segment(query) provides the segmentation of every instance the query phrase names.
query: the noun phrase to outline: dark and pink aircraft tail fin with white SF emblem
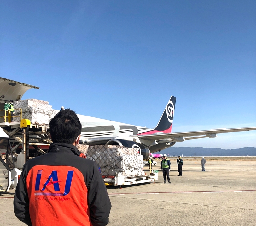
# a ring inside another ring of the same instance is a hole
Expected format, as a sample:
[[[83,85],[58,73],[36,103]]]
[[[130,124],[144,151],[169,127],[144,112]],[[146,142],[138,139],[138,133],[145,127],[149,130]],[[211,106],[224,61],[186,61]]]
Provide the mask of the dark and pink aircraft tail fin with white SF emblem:
[[[168,101],[165,110],[154,130],[170,133],[172,130],[172,121],[174,115],[174,108],[176,103],[176,97],[171,96],[170,100]]]

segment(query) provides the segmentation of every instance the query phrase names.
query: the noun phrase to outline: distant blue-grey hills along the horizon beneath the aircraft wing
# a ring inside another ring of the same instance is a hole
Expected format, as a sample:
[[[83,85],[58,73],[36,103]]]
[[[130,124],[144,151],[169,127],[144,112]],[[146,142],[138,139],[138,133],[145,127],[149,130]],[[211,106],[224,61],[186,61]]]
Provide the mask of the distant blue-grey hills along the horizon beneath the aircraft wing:
[[[256,148],[246,147],[238,149],[221,148],[190,148],[190,147],[170,147],[157,154],[169,154],[169,156],[256,156]]]

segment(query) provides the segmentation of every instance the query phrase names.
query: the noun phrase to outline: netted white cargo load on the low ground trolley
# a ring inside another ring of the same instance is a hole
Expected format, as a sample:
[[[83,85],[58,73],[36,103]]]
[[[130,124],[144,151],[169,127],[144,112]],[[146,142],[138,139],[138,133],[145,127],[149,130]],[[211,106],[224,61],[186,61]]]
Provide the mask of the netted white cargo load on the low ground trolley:
[[[98,163],[101,167],[101,174],[104,176],[121,174],[125,177],[131,177],[145,175],[143,156],[137,153],[136,148],[95,145],[88,148],[87,159]]]

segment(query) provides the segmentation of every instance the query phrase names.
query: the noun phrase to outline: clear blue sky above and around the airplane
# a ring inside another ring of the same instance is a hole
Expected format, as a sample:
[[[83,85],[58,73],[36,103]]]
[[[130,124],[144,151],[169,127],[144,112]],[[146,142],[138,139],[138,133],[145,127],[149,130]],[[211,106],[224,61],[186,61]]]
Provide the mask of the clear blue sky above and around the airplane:
[[[0,76],[23,99],[172,132],[256,126],[255,1],[1,1]],[[176,147],[256,147],[256,132]]]

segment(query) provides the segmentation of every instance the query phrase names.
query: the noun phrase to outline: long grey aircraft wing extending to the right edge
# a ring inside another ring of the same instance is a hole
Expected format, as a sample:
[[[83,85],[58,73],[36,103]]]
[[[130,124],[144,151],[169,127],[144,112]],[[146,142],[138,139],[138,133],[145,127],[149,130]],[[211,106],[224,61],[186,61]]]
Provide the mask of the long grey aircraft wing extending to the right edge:
[[[217,133],[240,132],[240,131],[249,131],[249,130],[256,130],[256,127],[213,129],[213,130],[177,132],[177,133],[154,133],[149,135],[136,135],[134,137],[139,137],[144,140],[171,139],[172,141],[182,142],[185,140],[193,140],[193,139],[199,139],[204,137],[214,138],[214,137],[217,137]]]

